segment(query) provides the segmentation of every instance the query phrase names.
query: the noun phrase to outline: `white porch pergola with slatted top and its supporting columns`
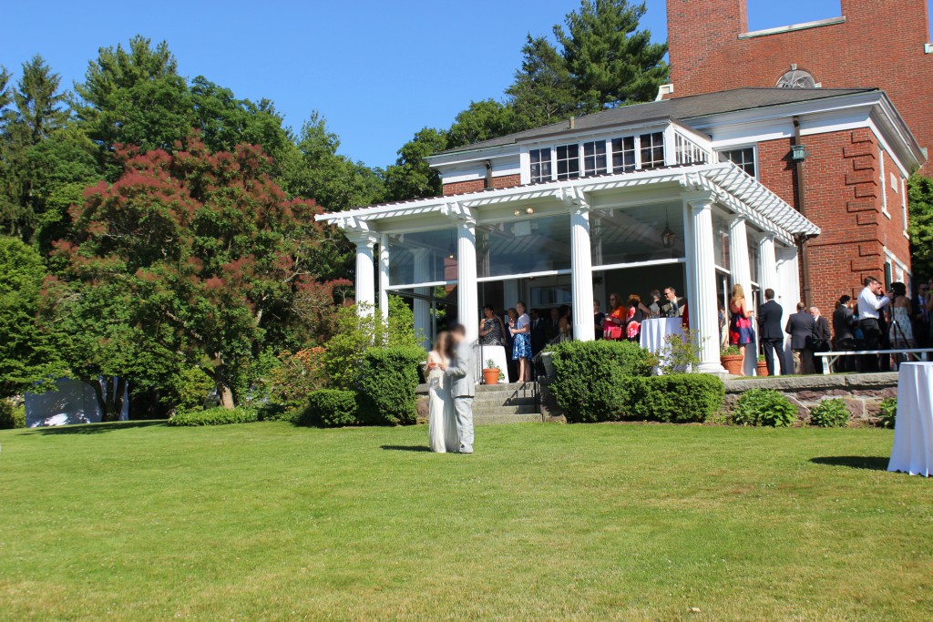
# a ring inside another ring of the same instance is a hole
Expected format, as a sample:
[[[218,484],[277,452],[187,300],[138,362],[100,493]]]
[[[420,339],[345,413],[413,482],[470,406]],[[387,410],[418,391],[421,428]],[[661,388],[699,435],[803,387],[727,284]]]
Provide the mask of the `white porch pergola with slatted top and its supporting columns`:
[[[714,210],[729,219],[731,283],[751,292],[748,229],[759,256],[759,287],[787,293],[786,312],[800,295],[797,242],[819,234],[812,222],[731,162],[689,164],[606,174],[530,186],[488,189],[450,197],[409,200],[321,214],[356,244],[356,300],[375,308],[375,249],[379,248],[378,308],[388,312],[389,235],[430,228],[456,229],[456,292],[459,321],[477,339],[480,317],[477,274],[478,225],[543,215],[569,214],[571,291],[575,310],[590,309],[591,214],[652,203],[682,205],[689,325],[698,337],[701,371],[720,372]],[[534,206],[533,214],[527,208]],[[622,266],[620,266],[622,267]],[[637,268],[638,264],[626,264]],[[513,275],[521,278],[523,275]],[[593,339],[593,315],[573,313],[574,339]],[[753,358],[754,360],[754,358]]]

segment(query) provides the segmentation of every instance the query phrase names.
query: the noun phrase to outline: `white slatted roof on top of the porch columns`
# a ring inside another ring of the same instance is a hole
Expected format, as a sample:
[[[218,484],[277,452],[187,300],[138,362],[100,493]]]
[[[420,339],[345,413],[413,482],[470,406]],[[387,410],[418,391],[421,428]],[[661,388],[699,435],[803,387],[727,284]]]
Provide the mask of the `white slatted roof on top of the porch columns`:
[[[678,193],[710,192],[717,203],[734,214],[745,215],[750,223],[773,233],[775,238],[788,245],[794,244],[799,237],[813,237],[820,233],[814,223],[732,162],[661,167],[381,203],[346,212],[320,214],[317,220],[337,225],[348,233],[378,233],[393,221],[411,222],[412,216],[443,215],[481,222],[483,210],[488,206],[542,199],[579,202],[590,196],[662,185],[675,185],[679,187]],[[671,198],[675,199],[677,195],[672,194]]]

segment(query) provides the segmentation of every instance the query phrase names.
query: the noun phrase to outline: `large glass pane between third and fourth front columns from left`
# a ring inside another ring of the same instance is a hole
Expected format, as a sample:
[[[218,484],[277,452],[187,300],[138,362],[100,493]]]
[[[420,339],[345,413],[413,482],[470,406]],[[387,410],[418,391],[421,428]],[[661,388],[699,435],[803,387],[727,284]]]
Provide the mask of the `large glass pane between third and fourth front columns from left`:
[[[593,266],[680,258],[684,256],[683,206],[593,210],[590,234]]]

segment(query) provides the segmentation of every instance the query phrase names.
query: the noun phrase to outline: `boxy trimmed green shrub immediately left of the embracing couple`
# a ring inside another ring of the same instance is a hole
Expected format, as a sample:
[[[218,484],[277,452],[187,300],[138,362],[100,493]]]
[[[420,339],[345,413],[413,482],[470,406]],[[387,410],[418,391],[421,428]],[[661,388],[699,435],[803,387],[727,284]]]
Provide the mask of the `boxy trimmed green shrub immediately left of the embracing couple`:
[[[369,348],[359,380],[359,419],[373,425],[408,425],[417,416],[421,348]]]

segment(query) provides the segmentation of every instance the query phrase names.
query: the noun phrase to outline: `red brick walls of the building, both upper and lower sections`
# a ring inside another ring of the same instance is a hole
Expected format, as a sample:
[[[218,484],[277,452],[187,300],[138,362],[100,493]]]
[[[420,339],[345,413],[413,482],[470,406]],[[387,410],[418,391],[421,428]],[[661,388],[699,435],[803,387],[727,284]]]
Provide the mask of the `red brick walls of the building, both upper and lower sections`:
[[[842,0],[839,17],[749,32],[747,0],[668,0],[671,85],[662,90],[676,98],[739,87],[878,88],[923,148],[933,145],[927,17],[926,0]],[[871,125],[803,132],[796,140],[810,155],[790,165],[789,124],[783,133],[757,141],[759,175],[823,230],[803,251],[803,297],[826,307],[869,274],[909,281],[903,177],[918,166],[931,173],[926,148],[918,164],[893,158]]]

